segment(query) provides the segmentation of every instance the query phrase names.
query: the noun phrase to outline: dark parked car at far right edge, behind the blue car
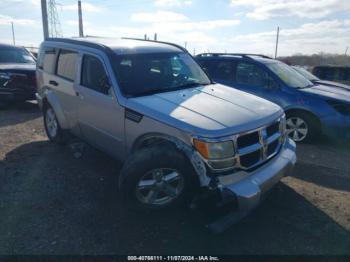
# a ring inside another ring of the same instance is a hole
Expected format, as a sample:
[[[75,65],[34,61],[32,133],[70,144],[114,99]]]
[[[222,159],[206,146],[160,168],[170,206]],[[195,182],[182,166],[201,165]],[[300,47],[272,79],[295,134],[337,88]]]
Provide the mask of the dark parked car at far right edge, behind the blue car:
[[[349,66],[315,66],[312,73],[322,80],[350,85]]]

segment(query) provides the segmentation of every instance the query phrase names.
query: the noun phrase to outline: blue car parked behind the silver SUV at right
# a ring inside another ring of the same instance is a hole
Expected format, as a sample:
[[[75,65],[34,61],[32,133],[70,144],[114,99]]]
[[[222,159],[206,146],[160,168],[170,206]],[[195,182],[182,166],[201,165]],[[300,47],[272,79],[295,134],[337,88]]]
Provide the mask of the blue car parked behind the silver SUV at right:
[[[350,90],[314,84],[262,55],[206,53],[196,59],[214,81],[280,105],[294,141],[310,142],[321,133],[350,139]]]

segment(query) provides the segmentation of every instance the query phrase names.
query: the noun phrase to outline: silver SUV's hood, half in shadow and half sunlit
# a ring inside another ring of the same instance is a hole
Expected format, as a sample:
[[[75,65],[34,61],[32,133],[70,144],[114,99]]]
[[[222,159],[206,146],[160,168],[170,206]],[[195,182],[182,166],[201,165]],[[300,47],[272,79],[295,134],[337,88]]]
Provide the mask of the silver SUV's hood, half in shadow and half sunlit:
[[[274,103],[220,84],[131,98],[128,107],[206,137],[249,131],[283,114]]]

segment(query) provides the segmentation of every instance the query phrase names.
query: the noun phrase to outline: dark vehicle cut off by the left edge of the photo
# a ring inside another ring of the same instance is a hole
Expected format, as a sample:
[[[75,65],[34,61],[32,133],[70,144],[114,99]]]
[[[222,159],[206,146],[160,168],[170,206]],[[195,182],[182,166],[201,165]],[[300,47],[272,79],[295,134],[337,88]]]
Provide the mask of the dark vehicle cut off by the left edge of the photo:
[[[0,44],[0,105],[35,99],[35,59],[23,47]]]

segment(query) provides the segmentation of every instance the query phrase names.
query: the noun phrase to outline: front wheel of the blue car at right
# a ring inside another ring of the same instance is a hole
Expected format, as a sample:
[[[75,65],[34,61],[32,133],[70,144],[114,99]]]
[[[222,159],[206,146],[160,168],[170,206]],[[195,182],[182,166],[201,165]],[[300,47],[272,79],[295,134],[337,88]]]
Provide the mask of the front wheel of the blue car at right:
[[[297,143],[310,143],[315,141],[320,130],[317,119],[305,112],[287,113],[288,136]]]

